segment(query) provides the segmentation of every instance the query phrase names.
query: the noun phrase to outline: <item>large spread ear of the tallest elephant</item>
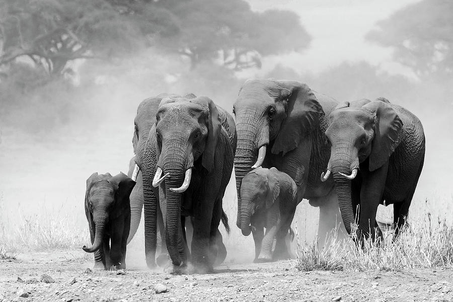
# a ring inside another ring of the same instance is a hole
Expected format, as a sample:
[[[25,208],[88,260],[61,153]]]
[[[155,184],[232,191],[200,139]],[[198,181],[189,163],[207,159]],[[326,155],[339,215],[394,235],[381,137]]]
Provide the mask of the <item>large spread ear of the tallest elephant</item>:
[[[318,126],[324,110],[307,84],[297,81],[276,81],[276,84],[287,104],[286,118],[275,138],[272,153],[285,155]]]

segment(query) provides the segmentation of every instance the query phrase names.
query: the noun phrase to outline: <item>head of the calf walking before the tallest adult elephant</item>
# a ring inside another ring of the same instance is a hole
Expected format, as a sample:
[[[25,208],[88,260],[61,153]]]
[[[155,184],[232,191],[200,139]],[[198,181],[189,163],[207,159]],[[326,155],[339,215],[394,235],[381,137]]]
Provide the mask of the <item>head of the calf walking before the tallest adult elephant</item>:
[[[251,217],[255,212],[269,209],[280,194],[280,183],[275,168],[258,167],[242,179],[241,184],[241,230],[244,236],[252,231]]]

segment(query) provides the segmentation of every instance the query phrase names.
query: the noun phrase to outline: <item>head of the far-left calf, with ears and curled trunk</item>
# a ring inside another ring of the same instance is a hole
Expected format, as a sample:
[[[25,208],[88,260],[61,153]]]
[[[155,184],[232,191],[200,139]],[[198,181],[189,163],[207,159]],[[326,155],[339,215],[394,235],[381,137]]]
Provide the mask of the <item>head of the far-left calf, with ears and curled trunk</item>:
[[[106,223],[129,207],[129,195],[134,186],[135,181],[123,173],[113,177],[109,173],[93,173],[87,179],[85,212],[90,229],[95,230],[95,239],[91,247],[83,247],[85,252],[93,253],[102,246]]]

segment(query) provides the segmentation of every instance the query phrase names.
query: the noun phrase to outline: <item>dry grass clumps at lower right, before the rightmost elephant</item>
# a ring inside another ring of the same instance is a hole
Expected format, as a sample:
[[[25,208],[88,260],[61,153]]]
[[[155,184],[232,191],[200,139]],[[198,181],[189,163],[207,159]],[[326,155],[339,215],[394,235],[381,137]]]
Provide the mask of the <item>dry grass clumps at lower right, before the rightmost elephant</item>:
[[[367,240],[363,249],[353,244],[329,240],[318,249],[316,242],[297,243],[294,267],[299,270],[351,269],[405,270],[447,268],[453,266],[453,226],[446,220],[432,223],[431,215],[412,221],[395,242],[391,236],[383,241]]]

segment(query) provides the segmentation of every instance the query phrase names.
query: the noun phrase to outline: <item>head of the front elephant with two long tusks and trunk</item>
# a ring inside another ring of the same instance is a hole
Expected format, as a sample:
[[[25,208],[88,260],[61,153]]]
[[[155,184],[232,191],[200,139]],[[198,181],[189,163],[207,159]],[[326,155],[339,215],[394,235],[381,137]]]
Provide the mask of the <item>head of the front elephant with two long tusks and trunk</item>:
[[[181,193],[190,185],[195,163],[201,163],[199,168],[208,173],[212,171],[221,131],[220,118],[215,104],[207,97],[166,98],[161,102],[153,129],[155,133],[150,135],[155,135],[157,153],[153,186],[162,184],[167,249],[173,264],[181,265],[178,247]]]

